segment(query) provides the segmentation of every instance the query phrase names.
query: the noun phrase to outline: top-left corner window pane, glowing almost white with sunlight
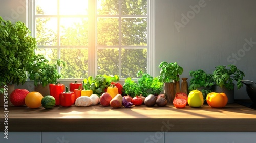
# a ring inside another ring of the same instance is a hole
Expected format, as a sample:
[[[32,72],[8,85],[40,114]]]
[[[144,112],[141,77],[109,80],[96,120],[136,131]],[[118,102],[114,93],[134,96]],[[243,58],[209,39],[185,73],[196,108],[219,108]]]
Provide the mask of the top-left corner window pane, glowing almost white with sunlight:
[[[57,15],[57,0],[36,0],[36,15]]]

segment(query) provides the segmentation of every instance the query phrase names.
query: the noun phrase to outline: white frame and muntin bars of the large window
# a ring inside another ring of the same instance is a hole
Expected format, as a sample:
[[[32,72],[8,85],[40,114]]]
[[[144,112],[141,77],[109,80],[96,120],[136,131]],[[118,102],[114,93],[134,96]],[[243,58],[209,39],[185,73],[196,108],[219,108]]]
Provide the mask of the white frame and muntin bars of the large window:
[[[59,0],[58,0],[59,1]],[[120,0],[119,0],[120,1]],[[151,76],[155,77],[156,73],[155,73],[155,69],[156,69],[156,64],[155,64],[155,1],[156,0],[147,0],[147,15],[146,17],[142,18],[147,18],[147,73],[150,74]],[[34,0],[27,0],[27,25],[28,28],[31,30],[32,36],[35,37],[35,15],[33,15],[34,12]],[[89,45],[88,45],[88,75],[89,76],[93,76],[95,77],[97,75],[97,47],[107,47],[107,46],[97,46],[97,41],[96,41],[96,34],[97,34],[97,17],[101,17],[101,16],[97,16],[96,14],[96,0],[89,0],[89,5],[90,7],[94,8],[94,14],[93,16],[89,13]],[[119,8],[119,13],[120,13],[120,8]],[[96,16],[95,16],[96,15]],[[121,15],[117,15],[119,17],[119,23],[120,23],[120,16]],[[44,17],[44,16],[42,16]],[[103,16],[102,16],[103,17]],[[109,16],[111,17],[111,16]],[[116,17],[116,16],[113,16]],[[123,16],[121,16],[123,17]],[[129,17],[129,16],[125,16],[125,17]],[[59,19],[59,18],[58,18]],[[59,22],[59,20],[58,20]],[[120,24],[119,24],[119,31],[121,31],[120,29]],[[58,31],[59,31],[59,27],[58,27]],[[120,37],[121,35],[119,34],[119,39],[121,39]],[[93,37],[93,38],[92,38]],[[58,32],[58,45],[54,46],[57,47],[58,49],[58,55],[57,58],[60,58],[60,46],[59,45],[59,32]],[[38,47],[47,47],[47,46],[38,46]],[[49,46],[50,47],[50,46]],[[87,47],[87,46],[84,46]],[[112,46],[112,47],[116,47],[116,46]],[[124,46],[124,47],[129,47],[129,46]],[[137,47],[137,46],[131,46],[131,47]],[[138,47],[142,47],[142,46],[138,46]],[[50,47],[51,48],[51,47]],[[122,46],[120,46],[120,40],[119,40],[119,58],[121,55],[121,48]],[[119,60],[119,65],[121,65],[121,61]],[[119,69],[121,67],[119,66]],[[60,71],[60,68],[58,69],[58,71]],[[121,70],[119,70],[119,75],[121,74]],[[59,79],[60,81],[73,81],[73,80],[82,80],[82,79]],[[120,79],[120,81],[122,81],[124,79]]]

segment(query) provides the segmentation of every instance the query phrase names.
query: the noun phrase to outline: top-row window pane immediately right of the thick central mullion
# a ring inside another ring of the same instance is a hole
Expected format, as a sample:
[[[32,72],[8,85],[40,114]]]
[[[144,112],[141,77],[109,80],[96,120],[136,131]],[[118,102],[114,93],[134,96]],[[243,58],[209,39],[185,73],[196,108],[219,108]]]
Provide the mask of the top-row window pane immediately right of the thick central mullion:
[[[97,0],[98,15],[118,15],[119,0]]]

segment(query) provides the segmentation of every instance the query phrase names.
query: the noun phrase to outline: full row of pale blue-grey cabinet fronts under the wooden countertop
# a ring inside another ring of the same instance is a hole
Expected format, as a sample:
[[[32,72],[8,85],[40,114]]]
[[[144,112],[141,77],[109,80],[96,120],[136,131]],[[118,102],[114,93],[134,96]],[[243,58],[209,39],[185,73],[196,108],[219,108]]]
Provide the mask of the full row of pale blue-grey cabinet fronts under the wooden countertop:
[[[251,143],[256,132],[0,132],[2,143]]]

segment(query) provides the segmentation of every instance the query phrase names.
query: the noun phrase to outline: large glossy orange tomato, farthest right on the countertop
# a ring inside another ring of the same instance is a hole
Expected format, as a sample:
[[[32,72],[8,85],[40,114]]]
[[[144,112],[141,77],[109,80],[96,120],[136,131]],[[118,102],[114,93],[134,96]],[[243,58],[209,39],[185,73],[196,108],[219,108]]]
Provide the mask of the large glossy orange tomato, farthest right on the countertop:
[[[225,93],[211,92],[207,94],[206,101],[210,107],[222,108],[227,105],[228,98]]]

